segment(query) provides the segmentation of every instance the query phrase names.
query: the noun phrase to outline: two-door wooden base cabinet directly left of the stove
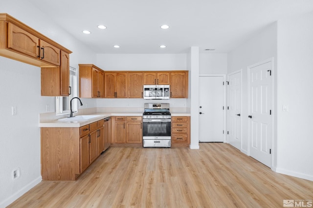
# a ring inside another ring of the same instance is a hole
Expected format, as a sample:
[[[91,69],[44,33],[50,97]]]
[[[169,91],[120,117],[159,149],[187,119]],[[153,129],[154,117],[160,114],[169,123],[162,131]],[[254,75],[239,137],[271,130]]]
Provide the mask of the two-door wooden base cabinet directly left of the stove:
[[[112,116],[111,146],[142,147],[142,116]]]

